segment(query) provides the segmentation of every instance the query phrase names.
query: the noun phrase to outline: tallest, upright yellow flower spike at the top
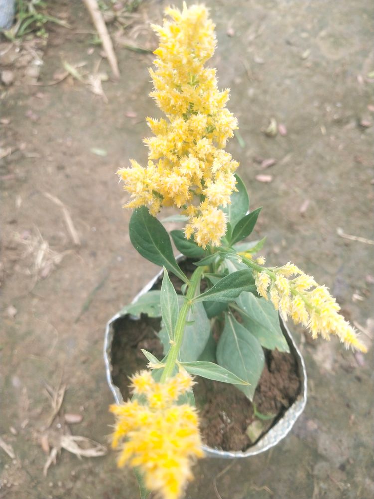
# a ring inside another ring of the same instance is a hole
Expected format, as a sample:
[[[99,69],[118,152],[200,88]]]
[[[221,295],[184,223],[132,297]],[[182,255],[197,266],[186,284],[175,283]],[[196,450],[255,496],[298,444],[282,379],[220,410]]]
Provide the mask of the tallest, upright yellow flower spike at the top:
[[[166,119],[147,118],[154,137],[144,139],[148,165],[135,160],[118,171],[131,194],[128,208],[148,206],[156,215],[162,206],[176,206],[187,215],[185,235],[193,234],[203,248],[217,246],[226,232],[221,206],[236,190],[234,172],[239,166],[224,150],[237,129],[226,109],[229,90],[219,91],[216,70],[204,67],[213,55],[214,24],[203,5],[183,10],[167,8],[163,26],[153,26],[160,45],[156,70],[150,69],[150,93]]]

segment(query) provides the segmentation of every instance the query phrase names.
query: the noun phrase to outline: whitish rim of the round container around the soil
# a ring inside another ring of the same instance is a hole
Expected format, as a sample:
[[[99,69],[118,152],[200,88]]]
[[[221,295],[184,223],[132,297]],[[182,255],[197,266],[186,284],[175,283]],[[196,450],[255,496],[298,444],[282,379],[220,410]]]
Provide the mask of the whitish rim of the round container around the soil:
[[[155,275],[155,277],[135,296],[135,298],[133,299],[133,303],[135,303],[140,296],[149,291],[154,286],[154,284],[162,278],[162,275],[163,271],[160,271],[157,275]],[[104,340],[104,361],[106,377],[109,388],[111,389],[114,400],[117,404],[121,404],[123,402],[123,398],[119,388],[113,383],[112,379],[111,349],[114,335],[114,323],[122,317],[123,315],[121,313],[117,313],[109,320],[106,325]],[[139,319],[134,317],[134,320]],[[212,447],[204,446],[203,450],[207,456],[228,459],[246,458],[267,451],[271,447],[274,447],[276,444],[278,444],[278,442],[280,442],[291,431],[291,428],[293,427],[295,421],[303,412],[307,401],[307,373],[305,370],[304,359],[299,349],[297,348],[290,331],[281,318],[280,324],[283,334],[290,346],[291,353],[294,355],[297,361],[301,383],[300,394],[298,395],[295,402],[287,409],[282,418],[277,421],[277,423],[272,428],[270,428],[270,430],[265,435],[263,435],[256,444],[249,447],[246,451],[223,451],[221,449],[214,449]]]

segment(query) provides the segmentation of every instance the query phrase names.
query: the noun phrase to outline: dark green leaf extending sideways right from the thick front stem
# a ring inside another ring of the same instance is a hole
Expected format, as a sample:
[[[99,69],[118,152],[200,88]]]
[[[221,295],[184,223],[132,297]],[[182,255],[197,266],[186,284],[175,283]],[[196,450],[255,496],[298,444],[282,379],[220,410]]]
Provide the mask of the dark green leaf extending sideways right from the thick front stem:
[[[250,268],[243,268],[237,272],[226,275],[217,284],[205,291],[205,293],[193,298],[194,303],[200,301],[233,301],[243,291],[254,292],[256,285]]]

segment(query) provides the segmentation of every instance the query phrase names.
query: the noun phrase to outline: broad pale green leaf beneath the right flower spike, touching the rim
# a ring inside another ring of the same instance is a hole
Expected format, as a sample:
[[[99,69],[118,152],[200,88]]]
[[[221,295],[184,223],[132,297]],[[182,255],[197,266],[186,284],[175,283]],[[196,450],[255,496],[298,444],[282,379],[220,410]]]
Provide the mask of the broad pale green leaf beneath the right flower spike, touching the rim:
[[[279,324],[278,312],[264,298],[256,298],[252,293],[242,293],[236,298],[243,326],[269,350],[289,352],[286,338]]]

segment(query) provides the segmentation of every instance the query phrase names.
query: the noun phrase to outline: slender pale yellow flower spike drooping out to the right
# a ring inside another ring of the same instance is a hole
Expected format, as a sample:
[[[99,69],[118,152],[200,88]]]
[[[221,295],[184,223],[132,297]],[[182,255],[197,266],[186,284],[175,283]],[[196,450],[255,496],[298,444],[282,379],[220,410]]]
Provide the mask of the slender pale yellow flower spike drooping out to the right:
[[[255,272],[255,281],[258,294],[266,300],[270,296],[284,319],[290,316],[295,324],[308,327],[313,338],[321,335],[328,340],[334,334],[347,348],[367,351],[355,329],[338,313],[340,306],[327,287],[319,286],[296,265],[289,262],[276,269],[264,268],[262,272]]]

